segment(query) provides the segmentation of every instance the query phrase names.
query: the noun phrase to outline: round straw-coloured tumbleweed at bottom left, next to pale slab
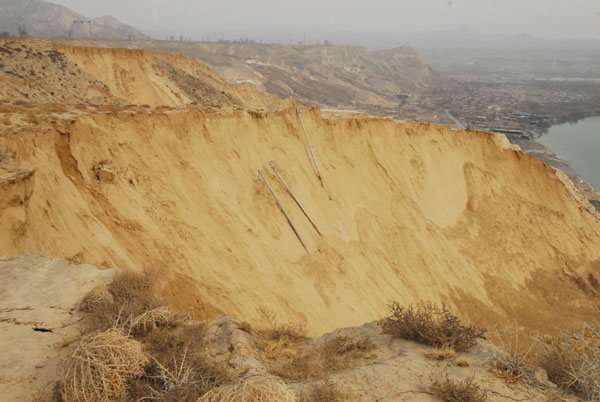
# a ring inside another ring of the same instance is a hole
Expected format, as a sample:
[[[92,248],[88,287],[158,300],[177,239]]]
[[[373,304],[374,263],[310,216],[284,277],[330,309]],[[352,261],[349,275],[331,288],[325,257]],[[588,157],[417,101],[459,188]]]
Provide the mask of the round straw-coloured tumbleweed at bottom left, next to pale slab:
[[[121,329],[82,338],[67,362],[65,401],[114,401],[126,395],[129,380],[144,373],[142,344]]]

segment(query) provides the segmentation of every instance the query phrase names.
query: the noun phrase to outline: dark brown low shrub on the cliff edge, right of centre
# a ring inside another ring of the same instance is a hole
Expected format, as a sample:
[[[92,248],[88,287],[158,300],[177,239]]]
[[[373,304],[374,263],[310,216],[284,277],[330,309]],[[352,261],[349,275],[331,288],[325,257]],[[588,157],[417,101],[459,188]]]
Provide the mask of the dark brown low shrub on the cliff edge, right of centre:
[[[394,337],[461,352],[475,346],[477,339],[485,334],[485,330],[463,326],[443,304],[402,307],[393,302],[388,308],[390,315],[383,319],[383,332]]]

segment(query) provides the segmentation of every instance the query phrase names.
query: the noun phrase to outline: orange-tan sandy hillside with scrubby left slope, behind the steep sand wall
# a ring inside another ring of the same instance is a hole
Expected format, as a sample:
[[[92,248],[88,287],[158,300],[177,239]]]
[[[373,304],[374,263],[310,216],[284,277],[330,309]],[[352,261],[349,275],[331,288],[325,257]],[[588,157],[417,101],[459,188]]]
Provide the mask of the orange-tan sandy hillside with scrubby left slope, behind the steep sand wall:
[[[249,84],[232,85],[177,54],[0,40],[5,102],[61,105],[188,104],[272,110],[290,105]]]

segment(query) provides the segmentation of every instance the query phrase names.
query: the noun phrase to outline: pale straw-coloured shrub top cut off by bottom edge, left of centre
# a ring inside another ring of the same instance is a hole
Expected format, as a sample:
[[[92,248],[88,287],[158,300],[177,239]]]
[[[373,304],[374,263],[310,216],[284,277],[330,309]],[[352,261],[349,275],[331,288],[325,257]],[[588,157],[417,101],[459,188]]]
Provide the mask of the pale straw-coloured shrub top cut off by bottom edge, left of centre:
[[[295,402],[296,395],[277,377],[255,375],[240,379],[235,384],[214,388],[198,402]]]

